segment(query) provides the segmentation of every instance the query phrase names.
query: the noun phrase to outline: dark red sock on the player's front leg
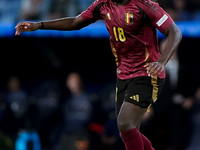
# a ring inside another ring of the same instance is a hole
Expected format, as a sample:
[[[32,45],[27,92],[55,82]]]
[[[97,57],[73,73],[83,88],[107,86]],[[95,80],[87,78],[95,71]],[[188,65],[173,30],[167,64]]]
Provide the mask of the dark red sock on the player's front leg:
[[[126,150],[144,150],[141,134],[136,128],[121,132],[121,137]]]

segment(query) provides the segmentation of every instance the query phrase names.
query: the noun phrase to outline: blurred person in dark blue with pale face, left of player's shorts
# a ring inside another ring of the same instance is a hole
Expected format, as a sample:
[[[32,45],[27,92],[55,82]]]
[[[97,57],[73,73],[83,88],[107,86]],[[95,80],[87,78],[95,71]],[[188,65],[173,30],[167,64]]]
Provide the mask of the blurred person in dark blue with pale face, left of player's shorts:
[[[83,82],[78,73],[70,73],[66,79],[66,86],[71,96],[63,105],[64,134],[61,139],[61,149],[79,150],[79,144],[84,143],[87,150],[87,124],[90,121],[91,103],[89,96],[84,92]],[[78,145],[76,144],[78,141]],[[82,141],[82,142],[80,142]],[[78,147],[77,147],[78,146]]]

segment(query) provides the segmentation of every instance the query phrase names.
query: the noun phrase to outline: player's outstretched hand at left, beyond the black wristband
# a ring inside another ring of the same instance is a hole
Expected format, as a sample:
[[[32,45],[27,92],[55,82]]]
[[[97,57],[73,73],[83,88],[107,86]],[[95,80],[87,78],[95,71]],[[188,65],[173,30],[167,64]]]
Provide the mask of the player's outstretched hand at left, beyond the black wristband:
[[[20,35],[24,31],[35,31],[38,30],[40,27],[40,22],[21,22],[15,27],[15,35]]]

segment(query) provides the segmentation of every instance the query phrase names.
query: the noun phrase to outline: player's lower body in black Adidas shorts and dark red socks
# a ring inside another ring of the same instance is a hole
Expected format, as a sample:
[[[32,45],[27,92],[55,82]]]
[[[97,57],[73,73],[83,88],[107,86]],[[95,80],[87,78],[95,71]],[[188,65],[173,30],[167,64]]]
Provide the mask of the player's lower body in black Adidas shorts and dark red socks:
[[[116,101],[118,127],[127,150],[154,150],[150,141],[139,132],[139,126],[146,108],[155,102],[154,98],[158,96],[163,84],[163,80],[158,84],[157,79],[136,78],[127,80],[123,91],[120,88],[122,86],[117,84],[119,87],[117,92],[119,99]]]

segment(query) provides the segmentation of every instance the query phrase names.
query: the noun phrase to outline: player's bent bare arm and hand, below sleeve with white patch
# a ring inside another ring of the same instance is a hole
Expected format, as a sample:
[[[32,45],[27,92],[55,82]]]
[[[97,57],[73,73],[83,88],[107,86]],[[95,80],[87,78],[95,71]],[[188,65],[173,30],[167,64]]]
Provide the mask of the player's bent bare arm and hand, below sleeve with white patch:
[[[177,50],[182,39],[182,33],[174,22],[163,32],[163,34],[167,36],[167,42],[160,58],[157,62],[151,62],[145,65],[150,76],[160,75],[171,56]]]

